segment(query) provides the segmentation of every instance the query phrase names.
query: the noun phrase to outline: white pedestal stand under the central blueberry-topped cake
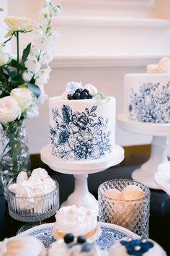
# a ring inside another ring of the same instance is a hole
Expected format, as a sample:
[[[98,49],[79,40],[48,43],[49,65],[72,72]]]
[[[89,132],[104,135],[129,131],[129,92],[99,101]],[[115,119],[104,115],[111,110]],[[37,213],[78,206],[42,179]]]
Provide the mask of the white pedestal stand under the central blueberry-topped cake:
[[[112,155],[109,155],[109,157],[103,160],[63,161],[63,159],[52,154],[50,145],[46,145],[40,150],[40,157],[42,162],[48,164],[53,171],[58,171],[63,174],[73,174],[74,176],[74,191],[69,195],[68,199],[63,202],[61,207],[79,204],[98,213],[98,202],[88,189],[88,174],[104,171],[111,166],[117,165],[124,159],[124,150],[120,146],[115,145],[112,150]]]

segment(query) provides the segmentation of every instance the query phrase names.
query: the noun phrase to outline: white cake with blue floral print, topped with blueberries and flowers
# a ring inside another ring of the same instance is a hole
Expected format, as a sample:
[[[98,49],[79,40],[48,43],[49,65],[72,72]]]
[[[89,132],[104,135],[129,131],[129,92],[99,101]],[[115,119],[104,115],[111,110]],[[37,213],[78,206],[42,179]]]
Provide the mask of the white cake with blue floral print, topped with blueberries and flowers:
[[[84,88],[95,92],[93,98],[68,100],[66,91],[49,99],[53,155],[65,161],[104,158],[115,145],[115,98],[97,94],[92,85]]]

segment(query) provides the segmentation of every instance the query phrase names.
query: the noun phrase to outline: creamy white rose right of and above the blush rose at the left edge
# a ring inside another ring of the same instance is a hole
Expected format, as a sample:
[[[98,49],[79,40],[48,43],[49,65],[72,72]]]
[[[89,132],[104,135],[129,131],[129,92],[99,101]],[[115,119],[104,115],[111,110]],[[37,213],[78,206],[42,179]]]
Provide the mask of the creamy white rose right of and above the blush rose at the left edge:
[[[14,97],[22,109],[22,111],[30,108],[32,104],[32,93],[28,88],[15,88],[11,91],[12,97]]]

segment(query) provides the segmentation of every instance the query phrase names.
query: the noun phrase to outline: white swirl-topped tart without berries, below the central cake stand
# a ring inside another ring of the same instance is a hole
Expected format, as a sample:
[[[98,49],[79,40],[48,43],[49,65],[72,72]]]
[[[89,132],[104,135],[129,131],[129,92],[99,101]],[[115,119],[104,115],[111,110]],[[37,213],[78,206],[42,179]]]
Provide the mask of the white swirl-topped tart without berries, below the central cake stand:
[[[60,208],[55,215],[53,236],[63,238],[68,233],[74,236],[91,238],[100,231],[97,222],[97,213],[88,210],[81,205],[71,205]]]

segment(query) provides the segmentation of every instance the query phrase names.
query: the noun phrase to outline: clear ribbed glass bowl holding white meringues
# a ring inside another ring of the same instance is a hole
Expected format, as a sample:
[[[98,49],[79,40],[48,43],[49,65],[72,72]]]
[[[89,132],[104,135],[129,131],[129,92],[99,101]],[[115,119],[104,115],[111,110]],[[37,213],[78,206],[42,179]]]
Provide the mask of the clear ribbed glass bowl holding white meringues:
[[[9,215],[17,221],[36,222],[53,216],[59,208],[59,184],[55,189],[42,196],[17,197],[6,189]]]

